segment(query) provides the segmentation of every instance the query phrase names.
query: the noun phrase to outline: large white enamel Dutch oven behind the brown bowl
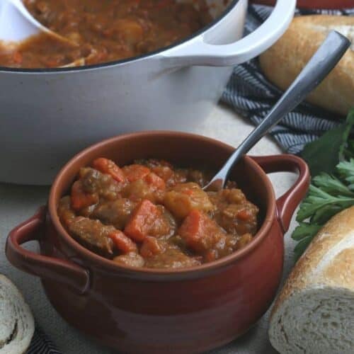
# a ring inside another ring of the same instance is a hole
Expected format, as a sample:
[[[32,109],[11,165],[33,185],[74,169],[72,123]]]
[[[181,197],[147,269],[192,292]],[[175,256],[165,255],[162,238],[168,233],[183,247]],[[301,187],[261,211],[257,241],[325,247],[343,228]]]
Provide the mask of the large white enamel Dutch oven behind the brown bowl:
[[[0,67],[0,181],[47,184],[75,152],[122,132],[193,130],[219,99],[232,66],[270,47],[296,0],[278,0],[241,38],[247,0],[209,0],[216,20],[142,57],[66,69]]]

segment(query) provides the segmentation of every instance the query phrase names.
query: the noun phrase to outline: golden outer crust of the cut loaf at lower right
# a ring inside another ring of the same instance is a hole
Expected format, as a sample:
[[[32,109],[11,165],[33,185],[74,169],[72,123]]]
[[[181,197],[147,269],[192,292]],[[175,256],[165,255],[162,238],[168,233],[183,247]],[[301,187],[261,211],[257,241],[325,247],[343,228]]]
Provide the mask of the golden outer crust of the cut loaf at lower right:
[[[338,252],[331,253],[338,245]],[[287,278],[270,317],[292,293],[318,285],[354,292],[354,207],[339,212],[316,234]]]

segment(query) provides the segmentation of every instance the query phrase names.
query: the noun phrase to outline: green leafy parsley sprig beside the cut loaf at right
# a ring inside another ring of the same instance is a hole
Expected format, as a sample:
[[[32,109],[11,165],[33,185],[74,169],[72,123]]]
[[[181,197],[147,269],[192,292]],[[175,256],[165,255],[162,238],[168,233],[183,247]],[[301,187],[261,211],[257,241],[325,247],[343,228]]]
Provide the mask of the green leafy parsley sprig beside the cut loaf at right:
[[[292,239],[297,241],[296,258],[333,215],[354,205],[354,140],[350,140],[353,125],[354,109],[345,123],[304,149],[302,157],[316,176],[299,207],[299,226],[292,233]]]

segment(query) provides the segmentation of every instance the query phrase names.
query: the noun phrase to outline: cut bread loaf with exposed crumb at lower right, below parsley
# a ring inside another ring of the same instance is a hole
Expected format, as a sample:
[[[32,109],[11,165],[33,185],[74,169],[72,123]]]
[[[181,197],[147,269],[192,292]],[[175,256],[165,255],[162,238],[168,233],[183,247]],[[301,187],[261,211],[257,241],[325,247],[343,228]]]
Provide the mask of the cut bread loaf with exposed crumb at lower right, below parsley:
[[[280,353],[354,353],[354,207],[332,217],[299,258],[269,338]]]

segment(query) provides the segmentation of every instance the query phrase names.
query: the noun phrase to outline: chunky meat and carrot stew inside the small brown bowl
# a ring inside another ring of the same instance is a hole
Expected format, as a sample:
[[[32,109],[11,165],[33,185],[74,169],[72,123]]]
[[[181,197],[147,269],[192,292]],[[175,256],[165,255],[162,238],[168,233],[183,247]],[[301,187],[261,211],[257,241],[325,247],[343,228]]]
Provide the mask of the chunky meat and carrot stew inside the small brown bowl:
[[[58,214],[76,241],[120,265],[200,265],[241,249],[257,231],[258,207],[236,183],[205,192],[209,179],[156,159],[120,168],[99,158],[79,171]]]

